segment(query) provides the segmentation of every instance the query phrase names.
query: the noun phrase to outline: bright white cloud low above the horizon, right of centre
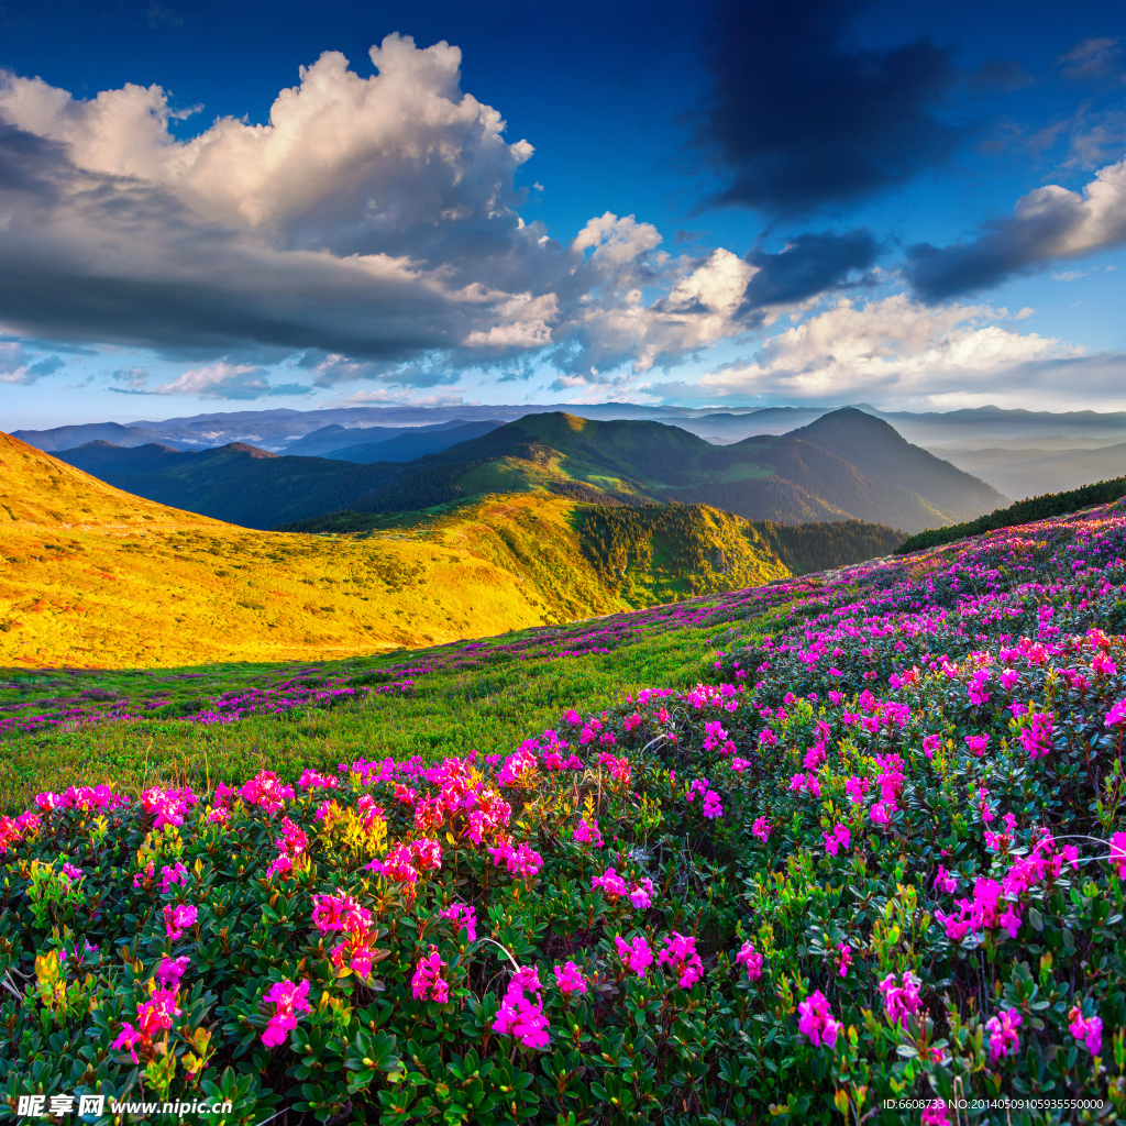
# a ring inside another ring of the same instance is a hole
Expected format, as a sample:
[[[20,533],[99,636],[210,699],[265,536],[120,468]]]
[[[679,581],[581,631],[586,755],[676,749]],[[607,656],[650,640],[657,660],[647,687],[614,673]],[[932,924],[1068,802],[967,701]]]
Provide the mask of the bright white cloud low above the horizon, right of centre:
[[[903,294],[866,305],[841,298],[768,339],[752,361],[704,375],[694,397],[823,403],[992,393],[1004,373],[1082,355],[1056,338],[995,323],[1008,316],[988,305],[929,309]],[[652,390],[671,396],[686,391]]]

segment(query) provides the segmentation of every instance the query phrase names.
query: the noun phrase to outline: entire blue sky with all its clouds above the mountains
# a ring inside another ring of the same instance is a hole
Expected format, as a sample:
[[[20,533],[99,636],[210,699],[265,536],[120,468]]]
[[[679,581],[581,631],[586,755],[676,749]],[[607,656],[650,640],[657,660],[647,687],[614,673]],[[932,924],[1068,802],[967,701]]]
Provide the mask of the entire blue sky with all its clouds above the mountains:
[[[1121,410],[1124,298],[1121,0],[0,0],[0,429]]]

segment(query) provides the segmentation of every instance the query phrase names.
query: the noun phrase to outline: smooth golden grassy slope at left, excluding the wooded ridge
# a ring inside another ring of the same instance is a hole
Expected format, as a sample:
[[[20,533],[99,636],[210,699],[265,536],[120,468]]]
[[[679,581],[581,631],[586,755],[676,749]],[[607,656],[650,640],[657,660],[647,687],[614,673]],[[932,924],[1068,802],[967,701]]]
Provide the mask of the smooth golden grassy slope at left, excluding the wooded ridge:
[[[521,578],[419,536],[249,531],[0,435],[0,664],[301,660],[554,620]],[[624,605],[597,593],[574,610]]]

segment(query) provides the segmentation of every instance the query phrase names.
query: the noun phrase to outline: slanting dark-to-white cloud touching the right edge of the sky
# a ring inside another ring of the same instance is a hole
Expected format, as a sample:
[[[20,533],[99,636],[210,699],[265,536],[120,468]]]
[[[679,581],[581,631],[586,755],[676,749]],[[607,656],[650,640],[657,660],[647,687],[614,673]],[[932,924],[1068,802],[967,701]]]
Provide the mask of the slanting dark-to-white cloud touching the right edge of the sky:
[[[905,275],[920,298],[936,302],[1123,242],[1126,159],[1100,169],[1082,191],[1056,184],[1029,191],[973,242],[910,248]]]

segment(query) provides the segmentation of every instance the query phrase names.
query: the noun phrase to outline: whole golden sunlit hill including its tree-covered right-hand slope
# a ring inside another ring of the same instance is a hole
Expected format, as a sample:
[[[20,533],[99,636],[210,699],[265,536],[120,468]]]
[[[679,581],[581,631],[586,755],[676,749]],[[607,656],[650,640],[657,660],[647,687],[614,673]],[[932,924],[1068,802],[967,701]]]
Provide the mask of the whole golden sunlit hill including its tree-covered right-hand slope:
[[[216,468],[312,461],[217,454]],[[369,517],[349,535],[256,531],[131,495],[0,434],[0,665],[154,668],[419,647],[768,582],[811,558],[884,554],[902,538],[844,525],[753,528],[680,506],[643,509],[634,524],[600,511],[526,492],[421,520]],[[610,524],[613,543],[631,553],[624,563],[604,549]]]

